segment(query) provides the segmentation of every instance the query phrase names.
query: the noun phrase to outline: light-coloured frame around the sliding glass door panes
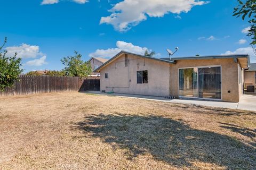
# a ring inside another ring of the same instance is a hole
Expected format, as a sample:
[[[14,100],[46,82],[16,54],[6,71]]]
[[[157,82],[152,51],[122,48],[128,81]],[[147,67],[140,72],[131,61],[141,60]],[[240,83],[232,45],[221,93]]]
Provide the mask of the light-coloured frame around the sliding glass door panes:
[[[210,67],[220,67],[220,99],[211,99],[211,98],[202,98],[199,97],[199,74],[198,71],[199,69],[202,68],[210,68]],[[197,96],[198,97],[187,97],[187,96],[180,96],[180,69],[194,69],[197,68]],[[217,101],[221,101],[222,100],[222,66],[221,65],[205,65],[205,66],[194,66],[194,67],[181,67],[178,69],[178,94],[179,94],[179,98],[192,98],[192,99],[203,99],[203,100],[217,100]]]

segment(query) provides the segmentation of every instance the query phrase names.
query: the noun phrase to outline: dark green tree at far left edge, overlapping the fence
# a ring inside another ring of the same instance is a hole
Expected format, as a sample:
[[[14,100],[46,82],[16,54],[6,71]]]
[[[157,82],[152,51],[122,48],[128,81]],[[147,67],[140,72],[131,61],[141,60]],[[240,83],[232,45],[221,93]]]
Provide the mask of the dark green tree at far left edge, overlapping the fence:
[[[16,80],[19,80],[19,75],[23,71],[21,66],[21,58],[17,58],[17,53],[13,57],[7,57],[7,50],[2,52],[7,38],[4,39],[4,44],[0,46],[0,90],[13,87]]]

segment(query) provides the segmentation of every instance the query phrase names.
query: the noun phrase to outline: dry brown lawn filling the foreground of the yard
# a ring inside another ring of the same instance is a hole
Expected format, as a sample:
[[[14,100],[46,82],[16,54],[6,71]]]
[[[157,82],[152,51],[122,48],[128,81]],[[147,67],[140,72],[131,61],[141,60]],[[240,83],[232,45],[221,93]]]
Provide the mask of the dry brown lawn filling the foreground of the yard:
[[[0,169],[256,169],[256,114],[75,92],[2,97]]]

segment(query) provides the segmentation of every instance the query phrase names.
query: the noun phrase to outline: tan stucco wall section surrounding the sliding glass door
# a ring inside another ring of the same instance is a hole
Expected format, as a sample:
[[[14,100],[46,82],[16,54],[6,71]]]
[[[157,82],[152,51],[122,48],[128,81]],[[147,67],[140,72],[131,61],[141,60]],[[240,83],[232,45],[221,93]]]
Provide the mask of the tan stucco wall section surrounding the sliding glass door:
[[[211,65],[221,65],[222,101],[238,102],[242,91],[238,84],[238,63],[232,58],[177,61],[177,64],[170,67],[170,95],[179,97],[179,68]]]

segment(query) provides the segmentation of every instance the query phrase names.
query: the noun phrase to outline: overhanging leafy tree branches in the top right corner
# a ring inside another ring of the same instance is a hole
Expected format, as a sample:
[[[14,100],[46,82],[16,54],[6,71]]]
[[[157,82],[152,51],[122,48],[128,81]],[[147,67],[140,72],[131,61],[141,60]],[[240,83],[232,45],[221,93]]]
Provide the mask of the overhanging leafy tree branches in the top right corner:
[[[252,42],[250,44],[253,48],[253,52],[256,54],[256,0],[246,0],[246,2],[243,2],[241,0],[237,1],[239,4],[237,5],[237,7],[234,8],[233,16],[242,16],[242,20],[244,20],[246,16],[249,18],[248,22],[251,24],[251,28],[247,36],[252,37]]]

